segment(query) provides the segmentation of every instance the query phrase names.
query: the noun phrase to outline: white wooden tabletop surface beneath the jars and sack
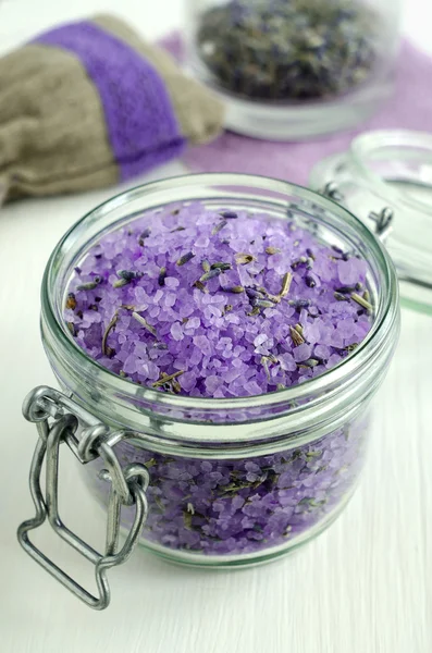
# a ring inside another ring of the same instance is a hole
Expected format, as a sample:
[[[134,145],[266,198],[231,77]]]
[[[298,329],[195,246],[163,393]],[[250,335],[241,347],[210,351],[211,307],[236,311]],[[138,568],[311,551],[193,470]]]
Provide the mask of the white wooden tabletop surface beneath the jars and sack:
[[[0,49],[49,24],[110,9],[150,37],[181,21],[180,0],[3,0]],[[431,17],[429,3],[407,2],[405,28],[432,53]],[[174,163],[151,176],[180,170]],[[33,386],[54,383],[39,340],[44,267],[63,232],[111,194],[29,200],[0,211],[0,650],[430,653],[432,319],[414,312],[403,313],[360,489],[336,523],[301,553],[257,569],[209,572],[170,566],[138,550],[110,575],[110,609],[95,613],[20,549],[16,526],[33,515],[27,473],[36,442],[21,404]],[[64,519],[100,544],[104,517],[82,486],[76,461],[66,457],[61,471]],[[48,528],[37,542],[83,582],[91,580],[89,565]]]

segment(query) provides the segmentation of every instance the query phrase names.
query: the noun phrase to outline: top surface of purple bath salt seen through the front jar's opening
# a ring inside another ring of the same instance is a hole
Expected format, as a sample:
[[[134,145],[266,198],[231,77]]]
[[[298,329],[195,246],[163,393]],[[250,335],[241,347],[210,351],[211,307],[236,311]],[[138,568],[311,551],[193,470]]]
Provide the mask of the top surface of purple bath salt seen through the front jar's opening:
[[[370,329],[366,262],[263,213],[147,213],[75,270],[64,315],[76,343],[161,392],[274,392],[334,367]]]

